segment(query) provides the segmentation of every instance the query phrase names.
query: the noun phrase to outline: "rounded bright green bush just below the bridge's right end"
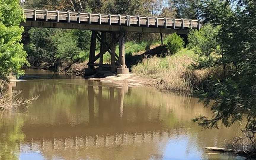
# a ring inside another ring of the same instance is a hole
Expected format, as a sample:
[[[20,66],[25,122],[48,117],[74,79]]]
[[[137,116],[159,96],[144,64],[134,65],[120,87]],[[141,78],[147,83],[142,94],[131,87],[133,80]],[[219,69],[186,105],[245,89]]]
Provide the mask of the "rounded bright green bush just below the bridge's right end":
[[[173,33],[165,38],[164,44],[166,45],[166,48],[170,54],[175,54],[184,47],[185,42],[183,41],[182,37],[176,33]]]

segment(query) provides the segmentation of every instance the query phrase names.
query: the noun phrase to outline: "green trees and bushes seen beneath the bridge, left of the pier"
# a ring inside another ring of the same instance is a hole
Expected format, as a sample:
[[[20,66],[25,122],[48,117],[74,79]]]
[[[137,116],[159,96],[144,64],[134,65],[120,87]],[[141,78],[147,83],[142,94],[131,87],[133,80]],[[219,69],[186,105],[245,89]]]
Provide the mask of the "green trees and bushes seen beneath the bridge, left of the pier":
[[[29,35],[28,60],[36,68],[57,69],[89,57],[89,31],[32,28]]]

